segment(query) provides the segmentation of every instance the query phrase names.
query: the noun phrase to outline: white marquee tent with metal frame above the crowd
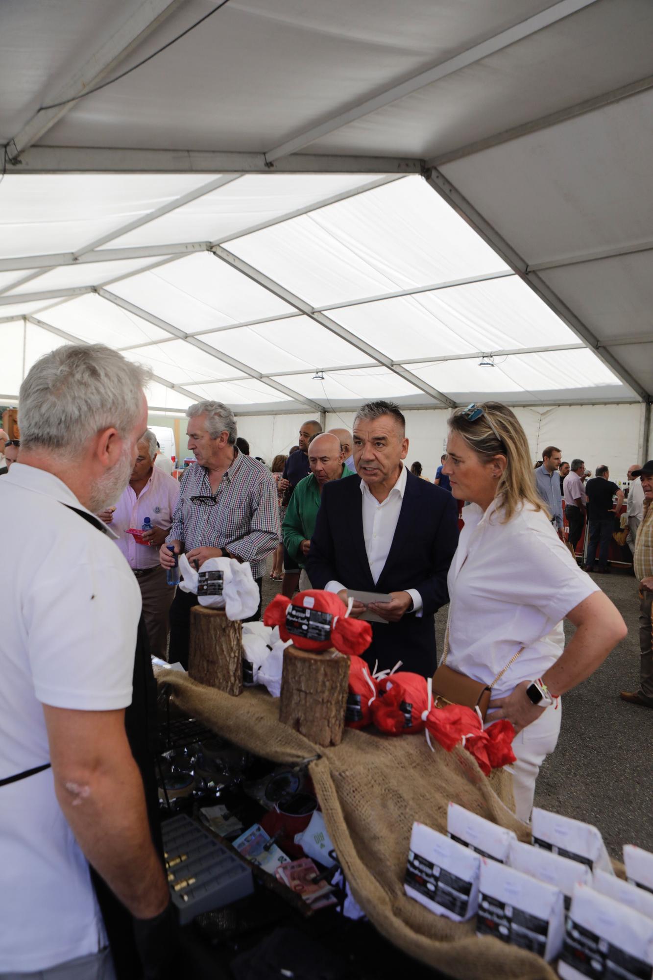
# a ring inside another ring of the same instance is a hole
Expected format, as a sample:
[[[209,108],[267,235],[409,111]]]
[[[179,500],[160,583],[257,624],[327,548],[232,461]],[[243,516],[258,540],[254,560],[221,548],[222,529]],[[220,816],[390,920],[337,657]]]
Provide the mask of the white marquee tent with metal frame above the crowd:
[[[386,397],[432,467],[491,397],[623,476],[652,50],[650,0],[5,0],[0,403],[102,341],[153,418],[219,399],[267,459]]]

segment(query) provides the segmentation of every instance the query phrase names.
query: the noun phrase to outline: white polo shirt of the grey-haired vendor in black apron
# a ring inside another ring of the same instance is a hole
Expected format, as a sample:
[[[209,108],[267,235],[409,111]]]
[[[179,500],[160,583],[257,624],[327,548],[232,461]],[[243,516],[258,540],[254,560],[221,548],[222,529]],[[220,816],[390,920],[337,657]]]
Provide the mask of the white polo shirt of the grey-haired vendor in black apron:
[[[63,503],[84,510],[42,469],[15,463],[0,480],[0,779],[50,760],[43,704],[110,711],[131,702],[140,590],[114,541]],[[0,973],[106,946],[52,769],[0,787],[0,868]]]

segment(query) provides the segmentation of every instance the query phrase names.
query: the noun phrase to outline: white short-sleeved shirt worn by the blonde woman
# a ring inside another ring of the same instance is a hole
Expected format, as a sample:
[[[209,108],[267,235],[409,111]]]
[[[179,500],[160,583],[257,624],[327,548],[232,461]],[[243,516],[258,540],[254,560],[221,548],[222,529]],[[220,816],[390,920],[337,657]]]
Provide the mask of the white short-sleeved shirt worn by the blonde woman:
[[[493,688],[510,694],[541,677],[563,652],[562,620],[600,589],[574,561],[541,511],[521,508],[507,523],[491,504],[470,504],[449,568],[448,666],[490,684],[525,647]]]

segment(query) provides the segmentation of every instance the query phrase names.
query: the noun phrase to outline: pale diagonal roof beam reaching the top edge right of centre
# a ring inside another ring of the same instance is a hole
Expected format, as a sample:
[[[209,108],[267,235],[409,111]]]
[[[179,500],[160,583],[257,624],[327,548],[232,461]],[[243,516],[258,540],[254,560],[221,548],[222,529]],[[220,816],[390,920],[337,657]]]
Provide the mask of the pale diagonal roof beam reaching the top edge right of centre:
[[[411,95],[413,92],[425,88],[440,78],[445,78],[449,74],[460,72],[461,69],[468,68],[476,62],[482,61],[483,58],[496,54],[497,51],[501,51],[503,48],[507,48],[509,45],[523,40],[525,37],[529,37],[530,34],[534,34],[544,27],[556,24],[556,22],[569,17],[571,14],[576,14],[583,7],[588,7],[594,2],[595,0],[562,0],[560,3],[555,3],[547,10],[535,14],[534,17],[527,18],[521,24],[509,27],[507,30],[502,30],[500,33],[495,34],[494,37],[481,41],[480,44],[475,44],[474,47],[463,51],[454,58],[448,58],[444,62],[437,62],[427,69],[426,72],[413,75],[413,77],[407,78],[398,85],[384,89],[384,91],[379,92],[373,98],[359,102],[345,112],[333,116],[323,123],[311,126],[309,129],[305,129],[303,132],[298,133],[296,136],[293,136],[291,139],[286,140],[266,153],[266,159],[270,163],[274,163],[280,157],[287,157],[289,154],[296,153],[303,147],[309,146],[316,140],[328,135],[328,133],[342,128],[347,123],[354,123],[356,120],[363,119],[365,116],[376,112],[377,109],[382,109],[384,106],[388,106],[398,99]]]

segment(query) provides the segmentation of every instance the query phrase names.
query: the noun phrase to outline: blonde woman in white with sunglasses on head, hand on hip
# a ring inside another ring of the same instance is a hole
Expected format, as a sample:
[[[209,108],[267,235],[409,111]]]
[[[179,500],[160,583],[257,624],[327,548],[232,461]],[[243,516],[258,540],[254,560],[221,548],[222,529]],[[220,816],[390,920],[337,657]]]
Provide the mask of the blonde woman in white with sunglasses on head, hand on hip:
[[[447,664],[492,685],[486,724],[512,721],[517,815],[528,820],[535,779],[560,732],[560,696],[627,634],[608,597],[578,568],[535,490],[527,438],[505,405],[458,409],[442,469],[465,526],[449,569]],[[576,632],[565,647],[563,619]]]

